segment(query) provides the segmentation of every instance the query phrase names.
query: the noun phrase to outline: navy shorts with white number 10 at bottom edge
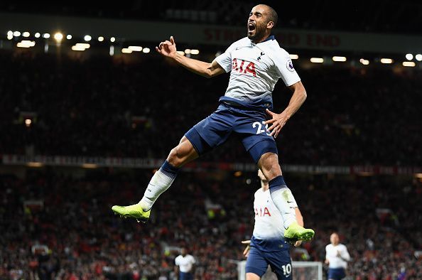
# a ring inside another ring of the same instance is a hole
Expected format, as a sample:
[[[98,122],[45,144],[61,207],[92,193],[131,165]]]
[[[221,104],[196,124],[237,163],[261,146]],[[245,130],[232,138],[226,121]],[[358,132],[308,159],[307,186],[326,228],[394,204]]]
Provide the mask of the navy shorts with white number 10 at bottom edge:
[[[268,266],[276,274],[278,280],[291,280],[293,268],[291,266],[290,254],[288,249],[264,252],[254,246],[251,246],[249,256],[247,258],[246,273],[253,273],[261,278]]]

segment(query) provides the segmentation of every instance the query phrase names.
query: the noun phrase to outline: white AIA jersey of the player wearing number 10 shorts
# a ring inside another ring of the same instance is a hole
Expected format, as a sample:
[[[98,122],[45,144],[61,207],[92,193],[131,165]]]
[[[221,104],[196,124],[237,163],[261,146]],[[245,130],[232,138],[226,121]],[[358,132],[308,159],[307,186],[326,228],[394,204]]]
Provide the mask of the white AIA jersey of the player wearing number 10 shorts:
[[[279,239],[284,237],[284,224],[281,212],[274,205],[269,190],[256,190],[254,199],[255,226],[257,239]],[[292,207],[298,207],[296,201]]]

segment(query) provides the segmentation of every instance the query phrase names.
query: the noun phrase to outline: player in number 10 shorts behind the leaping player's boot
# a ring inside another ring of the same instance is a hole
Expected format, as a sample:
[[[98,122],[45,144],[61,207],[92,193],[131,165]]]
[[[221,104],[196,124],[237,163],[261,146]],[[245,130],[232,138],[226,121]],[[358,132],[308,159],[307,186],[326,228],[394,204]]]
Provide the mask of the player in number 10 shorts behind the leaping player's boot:
[[[261,171],[261,188],[256,190],[254,199],[255,225],[251,240],[242,241],[247,244],[244,256],[247,257],[247,280],[259,280],[266,273],[268,266],[276,274],[277,279],[292,279],[291,257],[289,245],[284,240],[283,219],[271,200],[269,182]],[[291,196],[291,208],[296,211],[298,224],[303,226],[303,217],[296,200]],[[295,246],[299,246],[301,240]]]

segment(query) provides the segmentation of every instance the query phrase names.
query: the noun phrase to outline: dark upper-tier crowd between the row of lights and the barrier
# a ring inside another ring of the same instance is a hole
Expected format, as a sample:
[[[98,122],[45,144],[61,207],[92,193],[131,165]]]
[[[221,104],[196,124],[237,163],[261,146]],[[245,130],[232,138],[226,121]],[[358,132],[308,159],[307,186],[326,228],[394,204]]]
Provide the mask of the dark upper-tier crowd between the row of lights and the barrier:
[[[3,51],[0,64],[0,154],[30,156],[165,158],[217,108],[228,79],[207,80],[154,54],[127,62]],[[421,71],[300,65],[308,99],[278,139],[283,163],[422,166]],[[274,110],[290,97],[278,82]],[[232,138],[204,160],[251,162]]]

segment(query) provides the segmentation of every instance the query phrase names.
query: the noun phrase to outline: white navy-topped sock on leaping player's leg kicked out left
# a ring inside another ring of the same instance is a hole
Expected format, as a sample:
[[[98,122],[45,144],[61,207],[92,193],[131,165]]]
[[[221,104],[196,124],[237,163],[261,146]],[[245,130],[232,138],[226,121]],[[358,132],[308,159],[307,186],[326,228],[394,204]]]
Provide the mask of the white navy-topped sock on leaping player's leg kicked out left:
[[[178,171],[179,168],[172,166],[168,161],[164,161],[161,168],[158,169],[151,178],[151,181],[149,181],[144,197],[139,201],[144,211],[150,210],[158,196],[170,188],[175,177],[178,175]]]

